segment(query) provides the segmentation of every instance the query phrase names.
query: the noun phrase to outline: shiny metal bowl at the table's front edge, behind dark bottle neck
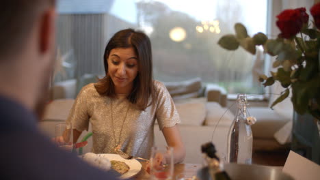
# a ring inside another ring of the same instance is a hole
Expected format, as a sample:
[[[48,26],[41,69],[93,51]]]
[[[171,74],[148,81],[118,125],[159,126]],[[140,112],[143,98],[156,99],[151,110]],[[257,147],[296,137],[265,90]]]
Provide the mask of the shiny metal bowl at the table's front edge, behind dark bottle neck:
[[[230,163],[224,164],[224,170],[232,180],[293,180],[293,177],[282,172],[281,168],[274,166]],[[197,177],[200,180],[210,180],[208,168],[198,170]]]

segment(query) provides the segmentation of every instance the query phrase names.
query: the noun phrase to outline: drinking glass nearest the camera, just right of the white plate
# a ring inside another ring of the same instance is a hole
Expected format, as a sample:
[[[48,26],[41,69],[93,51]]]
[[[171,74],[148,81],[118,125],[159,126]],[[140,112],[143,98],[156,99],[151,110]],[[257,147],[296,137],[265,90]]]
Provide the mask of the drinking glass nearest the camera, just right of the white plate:
[[[172,179],[173,172],[173,147],[152,147],[150,157],[151,179]]]

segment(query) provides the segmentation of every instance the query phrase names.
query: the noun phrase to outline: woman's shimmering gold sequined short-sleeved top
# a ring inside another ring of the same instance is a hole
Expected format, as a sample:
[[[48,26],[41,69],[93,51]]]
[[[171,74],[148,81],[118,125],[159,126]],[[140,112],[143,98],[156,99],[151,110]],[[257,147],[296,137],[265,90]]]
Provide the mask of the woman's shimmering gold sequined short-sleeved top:
[[[120,138],[122,151],[129,155],[149,158],[150,149],[154,143],[155,120],[157,119],[160,130],[180,123],[180,117],[168,90],[162,82],[154,80],[154,84],[158,93],[157,101],[146,110],[135,108],[125,95],[111,99],[100,95],[93,83],[86,85],[77,96],[67,123],[71,122],[72,127],[80,132],[88,130],[89,123],[92,125],[93,153],[114,153]],[[113,119],[111,118],[111,100]],[[124,121],[126,110],[128,112]]]

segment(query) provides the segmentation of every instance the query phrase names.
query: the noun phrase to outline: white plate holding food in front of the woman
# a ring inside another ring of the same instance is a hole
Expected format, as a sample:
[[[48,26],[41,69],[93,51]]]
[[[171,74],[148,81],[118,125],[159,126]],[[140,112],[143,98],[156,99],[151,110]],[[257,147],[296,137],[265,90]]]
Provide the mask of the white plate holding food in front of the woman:
[[[129,171],[124,173],[123,175],[121,175],[120,179],[127,179],[130,177],[133,177],[134,175],[137,175],[137,173],[142,168],[141,163],[138,162],[137,160],[126,160],[118,154],[101,153],[98,155],[100,155],[101,157],[107,157],[110,161],[116,160],[116,161],[120,161],[120,162],[125,162],[129,166],[129,168],[130,168]]]

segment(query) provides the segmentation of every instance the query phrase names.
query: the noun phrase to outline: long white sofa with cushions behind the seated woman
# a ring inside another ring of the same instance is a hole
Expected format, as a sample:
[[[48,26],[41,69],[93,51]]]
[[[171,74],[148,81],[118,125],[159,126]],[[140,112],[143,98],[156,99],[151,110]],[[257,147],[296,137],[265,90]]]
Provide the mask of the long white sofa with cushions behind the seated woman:
[[[176,88],[172,88],[168,84],[166,86],[168,86],[168,90],[171,93],[172,89],[175,89],[175,92],[179,91],[177,89],[185,89],[186,85],[193,87],[194,90],[191,92],[186,91],[187,93],[173,93],[173,99],[175,101],[176,108],[181,116],[181,124],[179,124],[178,127],[187,151],[184,162],[201,163],[202,155],[200,152],[200,146],[211,140],[213,140],[215,143],[218,151],[226,154],[227,134],[234,116],[231,112],[228,112],[228,110],[226,111],[226,108],[222,107],[218,102],[208,102],[206,97],[193,97],[191,94],[194,93],[194,91],[201,91],[201,85],[198,85],[198,80],[193,80],[192,83],[185,83],[185,85]],[[213,88],[211,90],[206,89],[205,94],[210,95],[211,98],[220,101],[219,97],[214,96],[221,95],[222,93],[219,89]],[[66,120],[73,102],[73,99],[53,100],[47,106],[44,118],[39,122],[40,129],[43,130],[45,134],[48,134],[48,136],[53,137],[55,123]],[[224,116],[222,117],[222,115]],[[217,125],[218,121],[219,125]],[[215,125],[217,125],[217,127],[215,127]],[[213,134],[214,130],[215,134]],[[81,134],[79,140],[81,140],[86,133],[88,132]],[[157,124],[155,125],[155,145],[166,145],[163,134],[159,130],[159,126]],[[89,145],[83,149],[83,152],[85,153],[90,151],[91,147],[92,140],[90,138]]]

